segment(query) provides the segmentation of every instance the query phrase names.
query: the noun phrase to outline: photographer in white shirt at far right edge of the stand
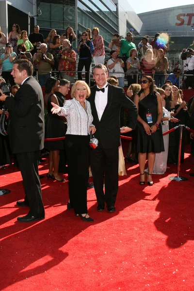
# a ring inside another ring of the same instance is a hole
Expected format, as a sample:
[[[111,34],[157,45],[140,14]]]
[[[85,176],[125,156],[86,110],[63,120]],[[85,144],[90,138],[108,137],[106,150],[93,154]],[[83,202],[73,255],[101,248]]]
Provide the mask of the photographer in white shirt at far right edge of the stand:
[[[183,49],[179,55],[179,59],[183,61],[184,83],[186,89],[194,89],[194,50],[193,49]]]

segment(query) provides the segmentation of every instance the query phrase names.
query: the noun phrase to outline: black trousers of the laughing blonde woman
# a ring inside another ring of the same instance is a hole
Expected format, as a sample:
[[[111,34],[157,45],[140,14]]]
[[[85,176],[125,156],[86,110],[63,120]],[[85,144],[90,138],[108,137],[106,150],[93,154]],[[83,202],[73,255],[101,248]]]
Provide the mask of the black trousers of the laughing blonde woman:
[[[66,134],[65,150],[68,165],[69,199],[75,213],[87,213],[89,179],[89,135]]]

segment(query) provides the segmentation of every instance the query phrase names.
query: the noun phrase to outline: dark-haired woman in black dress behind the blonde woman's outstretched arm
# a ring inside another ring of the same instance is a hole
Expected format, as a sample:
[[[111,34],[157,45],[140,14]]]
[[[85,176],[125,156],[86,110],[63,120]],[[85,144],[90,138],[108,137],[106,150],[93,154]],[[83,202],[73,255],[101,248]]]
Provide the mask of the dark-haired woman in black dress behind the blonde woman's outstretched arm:
[[[58,92],[60,89],[60,81],[54,77],[47,79],[45,83],[45,104],[48,109],[47,120],[45,124],[45,138],[55,138],[62,137],[65,135],[65,123],[63,117],[58,116],[57,114],[51,113],[51,102],[57,104],[60,107],[63,107],[65,99],[63,97],[57,97],[55,92]],[[64,182],[65,179],[62,179],[59,176],[59,152],[64,149],[63,141],[53,141],[46,142],[45,147],[49,150],[49,173],[47,178],[52,178],[59,182]]]

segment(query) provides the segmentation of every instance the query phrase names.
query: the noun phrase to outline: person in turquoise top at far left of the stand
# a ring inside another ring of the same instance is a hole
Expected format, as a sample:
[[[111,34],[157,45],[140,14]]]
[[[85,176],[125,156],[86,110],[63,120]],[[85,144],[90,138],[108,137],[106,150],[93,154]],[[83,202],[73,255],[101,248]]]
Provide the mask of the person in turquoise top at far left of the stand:
[[[2,77],[6,82],[9,82],[11,86],[15,84],[14,78],[11,75],[11,70],[16,59],[16,53],[13,52],[12,44],[7,43],[5,52],[0,56],[0,65],[2,65]]]

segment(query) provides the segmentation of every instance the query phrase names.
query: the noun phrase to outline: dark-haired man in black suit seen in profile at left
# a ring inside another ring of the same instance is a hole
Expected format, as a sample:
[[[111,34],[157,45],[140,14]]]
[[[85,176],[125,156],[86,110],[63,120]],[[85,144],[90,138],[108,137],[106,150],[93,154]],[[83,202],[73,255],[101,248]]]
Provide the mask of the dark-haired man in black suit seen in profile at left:
[[[19,222],[32,222],[45,218],[41,184],[38,176],[40,150],[44,147],[44,101],[39,83],[32,77],[33,67],[28,60],[14,62],[12,76],[20,88],[15,97],[2,94],[9,112],[8,134],[10,147],[16,154],[25,189],[24,201],[18,206],[29,206],[26,216]]]

